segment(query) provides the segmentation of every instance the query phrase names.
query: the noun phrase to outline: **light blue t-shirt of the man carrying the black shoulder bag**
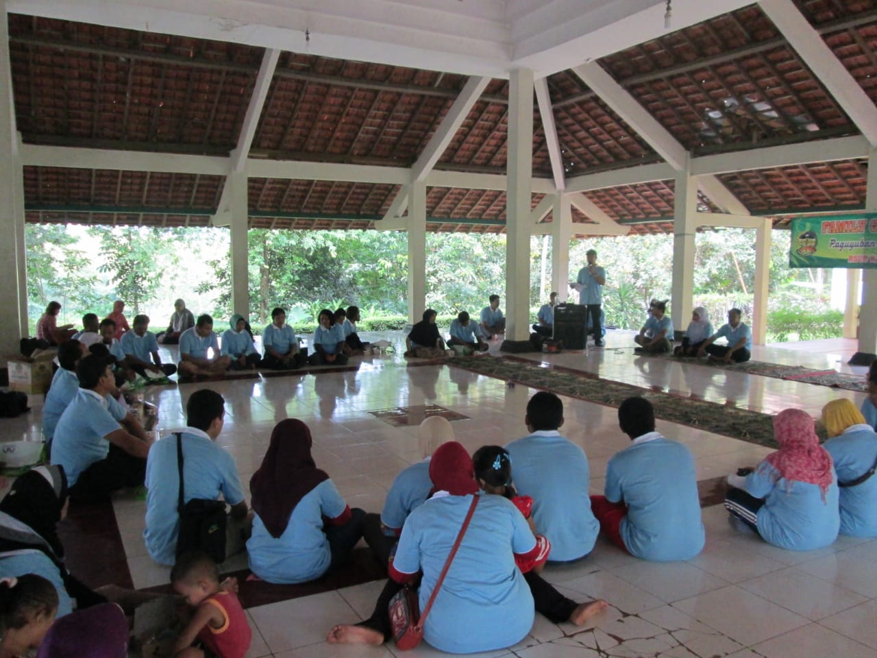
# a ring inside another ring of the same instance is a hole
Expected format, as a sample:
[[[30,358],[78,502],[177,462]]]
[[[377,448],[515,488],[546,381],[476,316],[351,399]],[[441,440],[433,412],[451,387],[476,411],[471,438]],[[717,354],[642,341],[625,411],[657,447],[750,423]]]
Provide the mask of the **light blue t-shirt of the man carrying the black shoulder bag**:
[[[219,494],[228,504],[244,500],[234,458],[195,427],[182,431],[182,476],[186,503],[193,498],[216,500]],[[176,458],[176,436],[168,434],[149,448],[146,458],[146,550],[160,564],[174,564],[176,537],[180,531],[177,504],[180,475]]]

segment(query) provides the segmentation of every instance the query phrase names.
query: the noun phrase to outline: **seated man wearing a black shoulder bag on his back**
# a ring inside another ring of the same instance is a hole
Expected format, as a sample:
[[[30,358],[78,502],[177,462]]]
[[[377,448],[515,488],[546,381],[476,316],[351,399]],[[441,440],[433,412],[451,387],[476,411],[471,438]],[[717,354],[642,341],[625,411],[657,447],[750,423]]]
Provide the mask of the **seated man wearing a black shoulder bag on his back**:
[[[187,427],[180,436],[168,434],[157,441],[146,460],[146,550],[160,564],[174,564],[180,529],[177,513],[180,473],[177,441],[182,441],[182,477],[185,502],[216,500],[220,494],[231,505],[225,525],[225,554],[244,548],[244,536],[253,526],[247,514],[244,489],[234,458],[217,438],[225,424],[225,400],[215,390],[196,390],[186,403]]]

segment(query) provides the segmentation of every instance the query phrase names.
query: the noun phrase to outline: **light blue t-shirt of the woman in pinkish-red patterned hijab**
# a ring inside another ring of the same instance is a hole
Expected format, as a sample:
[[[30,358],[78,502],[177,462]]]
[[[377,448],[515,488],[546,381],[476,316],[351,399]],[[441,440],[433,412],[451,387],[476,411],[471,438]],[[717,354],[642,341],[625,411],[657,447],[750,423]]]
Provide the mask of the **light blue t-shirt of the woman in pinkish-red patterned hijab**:
[[[838,538],[837,478],[823,500],[818,484],[789,482],[770,462],[762,461],[746,476],[745,490],[751,496],[765,499],[757,525],[766,542],[793,551],[809,551],[828,546]]]

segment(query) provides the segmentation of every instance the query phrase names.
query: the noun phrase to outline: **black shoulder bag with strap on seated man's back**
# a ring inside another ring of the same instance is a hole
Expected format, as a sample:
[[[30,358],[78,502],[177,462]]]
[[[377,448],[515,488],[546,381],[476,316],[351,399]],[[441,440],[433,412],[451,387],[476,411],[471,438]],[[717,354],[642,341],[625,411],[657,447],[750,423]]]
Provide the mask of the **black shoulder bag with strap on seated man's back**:
[[[176,464],[180,472],[180,532],[176,537],[176,556],[187,551],[203,551],[217,562],[225,561],[225,501],[193,498],[185,503],[182,482],[182,433],[176,437]]]

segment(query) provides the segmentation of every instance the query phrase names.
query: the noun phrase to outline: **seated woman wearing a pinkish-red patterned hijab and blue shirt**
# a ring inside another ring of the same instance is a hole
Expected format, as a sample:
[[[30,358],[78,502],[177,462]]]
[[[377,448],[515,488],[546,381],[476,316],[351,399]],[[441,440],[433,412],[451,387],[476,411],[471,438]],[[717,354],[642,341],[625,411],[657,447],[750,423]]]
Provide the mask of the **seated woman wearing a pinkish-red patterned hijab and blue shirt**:
[[[800,409],[774,417],[774,437],[779,450],[754,470],[741,468],[728,476],[724,506],[731,519],[774,546],[795,551],[828,546],[840,529],[831,454],[819,445],[813,418]]]

